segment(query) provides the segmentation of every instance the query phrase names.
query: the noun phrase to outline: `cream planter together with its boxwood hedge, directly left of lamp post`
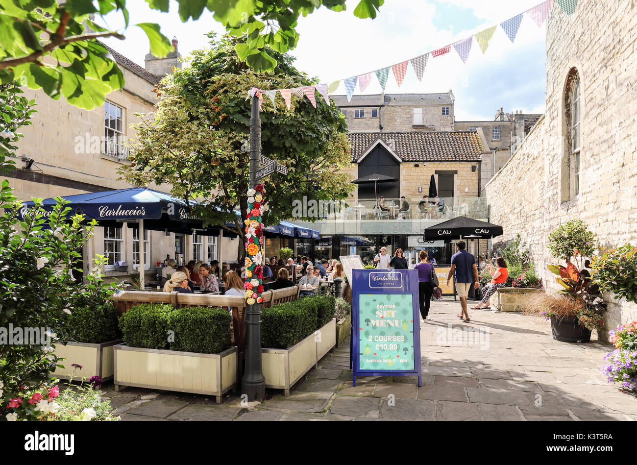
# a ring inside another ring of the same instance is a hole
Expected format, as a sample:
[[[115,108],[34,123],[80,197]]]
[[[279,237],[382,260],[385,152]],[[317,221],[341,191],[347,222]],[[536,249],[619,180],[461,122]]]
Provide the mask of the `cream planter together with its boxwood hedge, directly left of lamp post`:
[[[121,386],[217,396],[237,381],[237,349],[223,308],[136,305],[120,317],[124,344],[115,346],[115,390]]]

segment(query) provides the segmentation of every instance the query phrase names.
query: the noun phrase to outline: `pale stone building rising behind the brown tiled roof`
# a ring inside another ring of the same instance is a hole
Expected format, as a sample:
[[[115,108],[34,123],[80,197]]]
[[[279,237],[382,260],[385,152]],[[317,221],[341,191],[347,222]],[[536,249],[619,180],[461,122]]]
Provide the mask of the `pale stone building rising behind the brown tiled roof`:
[[[330,96],[350,132],[454,131],[454,94]]]

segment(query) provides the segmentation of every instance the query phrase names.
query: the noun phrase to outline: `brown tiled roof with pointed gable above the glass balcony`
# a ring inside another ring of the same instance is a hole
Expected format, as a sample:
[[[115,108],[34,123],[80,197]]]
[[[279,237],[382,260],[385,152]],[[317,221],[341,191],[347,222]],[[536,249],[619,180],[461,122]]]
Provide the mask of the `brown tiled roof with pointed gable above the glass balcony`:
[[[404,162],[478,161],[484,148],[475,131],[350,132],[352,162],[381,139]]]

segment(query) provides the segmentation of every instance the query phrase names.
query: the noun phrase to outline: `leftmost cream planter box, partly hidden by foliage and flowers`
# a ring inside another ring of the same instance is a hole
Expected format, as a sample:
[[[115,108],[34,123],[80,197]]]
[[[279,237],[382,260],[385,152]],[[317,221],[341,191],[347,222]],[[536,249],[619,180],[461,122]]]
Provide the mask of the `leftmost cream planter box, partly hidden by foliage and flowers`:
[[[69,341],[65,345],[55,345],[55,355],[64,358],[62,365],[64,368],[55,368],[53,375],[63,380],[68,380],[73,373],[71,364],[78,364],[82,369],[75,369],[73,381],[82,381],[82,378],[92,378],[99,376],[102,381],[113,378],[113,347],[120,344],[121,339],[107,341],[101,344],[91,344],[84,342]]]

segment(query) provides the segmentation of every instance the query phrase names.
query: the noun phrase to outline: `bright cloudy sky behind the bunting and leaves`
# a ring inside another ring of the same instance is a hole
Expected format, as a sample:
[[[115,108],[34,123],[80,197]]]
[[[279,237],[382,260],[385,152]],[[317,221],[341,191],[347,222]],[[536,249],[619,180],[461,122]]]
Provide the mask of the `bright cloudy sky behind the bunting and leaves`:
[[[299,18],[299,43],[291,50],[296,67],[331,83],[350,76],[385,68],[420,54],[468,38],[487,27],[499,24],[541,0],[385,0],[378,16],[361,20],[354,16],[358,0],[348,1],[347,11],[336,13],[320,8]],[[223,34],[225,29],[205,10],[197,20],[182,23],[177,4],[170,2],[169,13],[150,10],[143,0],[127,2],[130,24],[157,22],[161,31],[173,38],[183,57],[207,45],[208,31]],[[120,15],[106,17],[109,27],[120,27]],[[493,120],[496,111],[543,113],[545,103],[545,31],[524,17],[511,43],[501,27],[482,54],[477,42],[466,64],[452,48],[442,57],[429,59],[422,82],[408,66],[401,87],[390,73],[386,93],[448,92],[455,96],[455,120]],[[148,39],[138,27],[125,31],[126,39],[106,39],[121,54],[143,66]],[[186,66],[186,65],[185,65]],[[364,93],[380,93],[375,78]],[[341,85],[336,94],[345,94]],[[355,94],[359,94],[357,88]]]

